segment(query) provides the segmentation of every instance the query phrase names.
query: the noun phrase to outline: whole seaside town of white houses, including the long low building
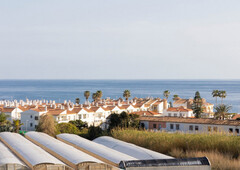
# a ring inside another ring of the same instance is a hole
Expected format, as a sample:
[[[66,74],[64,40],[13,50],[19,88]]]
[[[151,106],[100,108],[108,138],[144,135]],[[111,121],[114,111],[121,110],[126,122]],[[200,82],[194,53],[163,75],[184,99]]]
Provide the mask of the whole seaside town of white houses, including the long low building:
[[[213,91],[213,97],[216,97],[217,93],[219,91]],[[228,106],[221,103],[218,107],[225,108],[216,113],[214,108],[219,108],[201,98],[199,92],[196,92],[194,99],[182,99],[173,95],[173,102],[168,102],[168,90],[163,94],[165,99],[135,97],[129,100],[131,93],[125,90],[124,99],[114,100],[102,99],[102,91],[97,91],[92,94],[92,102],[89,102],[90,92],[85,91],[86,100],[82,104],[79,98],[74,102],[65,100],[63,103],[55,100],[2,100],[0,112],[4,113],[11,123],[19,120],[22,131],[35,131],[42,115],[51,115],[57,123],[81,120],[88,127],[99,126],[107,129],[112,114],[126,112],[137,115],[140,126],[148,130],[190,133],[224,131],[239,135],[240,121],[235,120],[238,115],[228,114]]]

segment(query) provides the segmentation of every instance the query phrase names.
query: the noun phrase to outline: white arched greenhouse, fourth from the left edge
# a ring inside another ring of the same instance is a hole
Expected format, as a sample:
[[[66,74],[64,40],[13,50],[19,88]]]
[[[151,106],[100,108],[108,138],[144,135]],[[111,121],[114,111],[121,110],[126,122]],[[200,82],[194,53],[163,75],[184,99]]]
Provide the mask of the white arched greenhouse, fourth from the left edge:
[[[77,149],[94,156],[108,164],[118,167],[123,160],[137,160],[134,157],[110,149],[104,145],[89,141],[74,134],[59,134],[57,138],[67,144],[70,144]]]

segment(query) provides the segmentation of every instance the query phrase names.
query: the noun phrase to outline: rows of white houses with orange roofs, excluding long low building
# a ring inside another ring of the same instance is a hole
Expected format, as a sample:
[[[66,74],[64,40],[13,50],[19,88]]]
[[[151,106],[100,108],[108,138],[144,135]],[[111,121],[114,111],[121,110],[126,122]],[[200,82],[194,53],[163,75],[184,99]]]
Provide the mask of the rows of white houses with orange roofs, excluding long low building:
[[[213,104],[207,103],[203,100],[204,115],[207,117],[213,116]],[[90,103],[86,101],[84,104],[75,104],[71,101],[64,101],[63,103],[56,103],[54,100],[14,100],[14,101],[0,101],[0,112],[4,112],[9,115],[8,120],[13,121],[16,119],[21,120],[23,126],[21,130],[34,131],[38,126],[41,115],[52,115],[54,120],[58,123],[67,123],[74,120],[82,120],[86,122],[88,126],[98,126],[105,124],[110,114],[125,111],[127,113],[137,114],[140,117],[152,116],[156,119],[164,119],[164,117],[179,117],[193,118],[194,113],[191,109],[192,99],[175,99],[173,106],[166,99],[160,98],[134,98],[130,101],[124,101],[119,98],[113,100],[110,98],[100,99],[97,102]],[[170,119],[169,119],[170,120]],[[192,121],[195,121],[193,119]],[[146,124],[146,122],[144,122]],[[154,125],[153,129],[162,129],[165,126],[168,129],[168,124]],[[152,125],[151,125],[152,126]],[[151,127],[146,124],[146,128]],[[178,127],[179,126],[179,127]],[[101,126],[107,127],[107,126]],[[169,125],[172,127],[172,125]],[[181,124],[175,125],[174,129],[181,129]],[[200,127],[199,127],[200,129]],[[184,130],[186,131],[186,130]]]

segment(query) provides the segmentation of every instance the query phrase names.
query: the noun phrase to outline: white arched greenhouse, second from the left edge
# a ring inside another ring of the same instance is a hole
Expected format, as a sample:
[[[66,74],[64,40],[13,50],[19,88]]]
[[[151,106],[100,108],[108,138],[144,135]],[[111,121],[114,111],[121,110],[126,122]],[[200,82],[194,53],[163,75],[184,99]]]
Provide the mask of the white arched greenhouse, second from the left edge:
[[[68,169],[63,162],[17,133],[2,132],[0,140],[31,169]]]

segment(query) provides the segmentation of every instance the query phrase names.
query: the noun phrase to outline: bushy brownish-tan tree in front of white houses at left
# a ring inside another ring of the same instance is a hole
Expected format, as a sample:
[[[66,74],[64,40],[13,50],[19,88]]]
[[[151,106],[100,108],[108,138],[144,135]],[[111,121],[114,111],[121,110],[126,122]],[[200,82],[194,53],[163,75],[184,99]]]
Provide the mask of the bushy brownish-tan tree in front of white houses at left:
[[[41,115],[36,130],[38,132],[46,133],[50,136],[56,136],[57,129],[55,127],[53,116],[49,114]]]

